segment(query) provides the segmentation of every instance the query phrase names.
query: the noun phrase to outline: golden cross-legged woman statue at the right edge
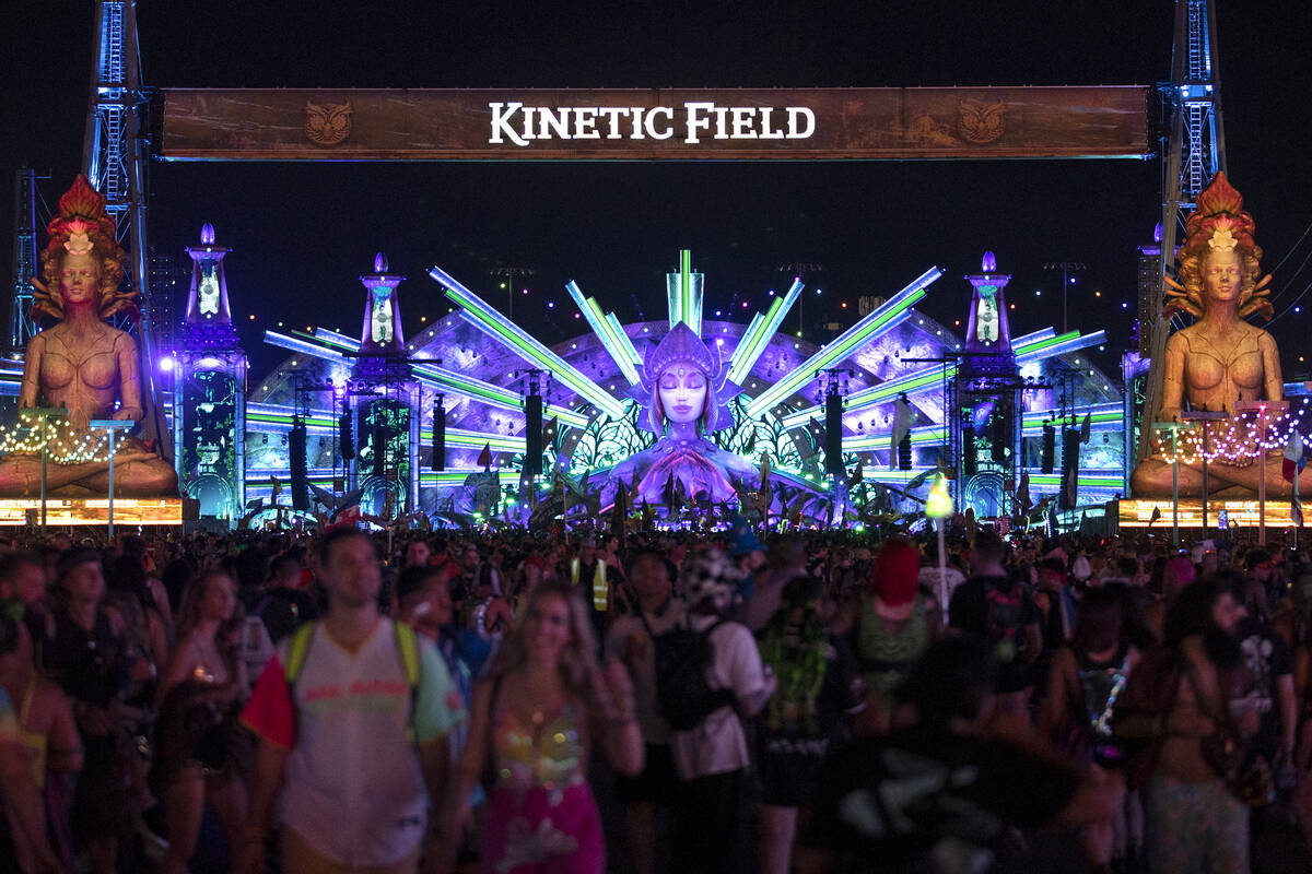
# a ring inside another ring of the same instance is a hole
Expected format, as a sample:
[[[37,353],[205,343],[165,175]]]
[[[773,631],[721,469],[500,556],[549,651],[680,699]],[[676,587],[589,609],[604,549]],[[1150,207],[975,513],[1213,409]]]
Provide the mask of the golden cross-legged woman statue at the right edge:
[[[1244,198],[1218,173],[1198,197],[1198,206],[1186,223],[1181,245],[1179,282],[1168,279],[1166,316],[1187,312],[1197,321],[1166,342],[1165,384],[1158,410],[1144,410],[1144,427],[1149,422],[1172,422],[1187,410],[1211,410],[1235,414],[1241,401],[1281,401],[1281,359],[1271,335],[1244,321],[1245,316],[1271,317],[1270,276],[1258,282],[1262,250],[1253,241],[1253,216],[1244,211]],[[1269,421],[1277,418],[1273,411]],[[1253,415],[1249,414],[1249,419]],[[1208,431],[1215,451],[1215,435],[1229,431],[1224,419],[1210,422]],[[1240,434],[1256,435],[1260,423],[1233,423]],[[1270,436],[1267,436],[1270,439]],[[1200,426],[1194,432],[1181,430],[1179,494],[1202,495]],[[1256,444],[1249,444],[1237,459],[1215,459],[1207,464],[1210,497],[1256,497],[1262,480],[1262,465]],[[1281,449],[1270,451],[1266,463],[1266,494],[1290,498],[1292,489],[1281,474]],[[1131,476],[1135,497],[1170,497],[1170,436],[1153,440],[1153,452],[1143,459]],[[1186,463],[1186,459],[1189,461]],[[1300,484],[1300,493],[1312,491],[1312,477]]]

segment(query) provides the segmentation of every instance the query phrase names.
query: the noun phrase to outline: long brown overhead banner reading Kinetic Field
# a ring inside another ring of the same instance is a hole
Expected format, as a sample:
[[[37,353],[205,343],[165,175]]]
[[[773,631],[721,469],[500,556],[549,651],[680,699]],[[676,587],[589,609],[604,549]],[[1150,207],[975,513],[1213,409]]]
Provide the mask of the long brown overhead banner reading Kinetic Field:
[[[1152,153],[1148,88],[165,89],[172,161],[914,160]]]

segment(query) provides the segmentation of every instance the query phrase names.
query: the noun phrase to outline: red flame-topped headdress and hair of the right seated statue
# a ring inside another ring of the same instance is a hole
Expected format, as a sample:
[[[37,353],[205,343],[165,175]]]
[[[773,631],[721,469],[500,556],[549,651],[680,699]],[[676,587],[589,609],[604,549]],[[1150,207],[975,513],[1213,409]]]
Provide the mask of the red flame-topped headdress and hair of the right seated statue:
[[[1166,279],[1165,314],[1177,312],[1194,317],[1203,314],[1203,261],[1212,252],[1237,252],[1240,257],[1239,314],[1257,313],[1270,318],[1270,276],[1257,282],[1258,261],[1262,250],[1253,240],[1257,225],[1244,210],[1244,197],[1235,190],[1224,173],[1212,177],[1211,183],[1198,195],[1198,206],[1185,223],[1185,241],[1178,250],[1179,280]]]

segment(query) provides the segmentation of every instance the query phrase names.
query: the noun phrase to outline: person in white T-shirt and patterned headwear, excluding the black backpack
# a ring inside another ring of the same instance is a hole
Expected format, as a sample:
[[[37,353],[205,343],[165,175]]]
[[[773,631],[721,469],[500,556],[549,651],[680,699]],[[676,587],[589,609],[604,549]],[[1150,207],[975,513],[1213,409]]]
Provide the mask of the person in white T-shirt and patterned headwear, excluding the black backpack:
[[[689,556],[680,570],[687,626],[710,636],[710,689],[729,689],[735,704],[714,710],[695,727],[674,731],[670,751],[682,781],[677,810],[674,869],[736,870],[743,812],[743,782],[752,764],[743,719],[750,719],[774,692],[756,638],[745,625],[727,621],[743,571],[719,549]]]

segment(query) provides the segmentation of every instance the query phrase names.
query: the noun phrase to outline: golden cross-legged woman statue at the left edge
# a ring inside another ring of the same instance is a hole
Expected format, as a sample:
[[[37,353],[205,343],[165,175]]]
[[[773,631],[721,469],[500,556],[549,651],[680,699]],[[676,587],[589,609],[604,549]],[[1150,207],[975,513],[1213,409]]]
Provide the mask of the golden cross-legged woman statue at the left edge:
[[[34,316],[59,324],[28,343],[20,417],[34,406],[63,408],[66,418],[49,422],[47,491],[56,495],[104,495],[109,490],[105,431],[93,419],[140,422],[140,364],[131,334],[105,324],[117,312],[136,312],[134,292],[122,292],[126,254],[114,237],[105,198],[79,176],[59,199],[59,215],[47,227],[50,244],[41,253]],[[115,409],[117,402],[117,409]],[[33,423],[39,428],[39,422]],[[34,497],[41,491],[41,452],[14,431],[0,443],[0,495]],[[24,443],[25,446],[18,446]],[[104,444],[105,448],[98,448]],[[173,466],[135,438],[115,440],[114,493],[163,497],[177,494]]]

